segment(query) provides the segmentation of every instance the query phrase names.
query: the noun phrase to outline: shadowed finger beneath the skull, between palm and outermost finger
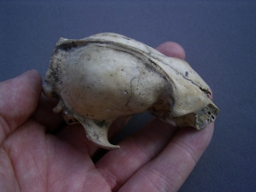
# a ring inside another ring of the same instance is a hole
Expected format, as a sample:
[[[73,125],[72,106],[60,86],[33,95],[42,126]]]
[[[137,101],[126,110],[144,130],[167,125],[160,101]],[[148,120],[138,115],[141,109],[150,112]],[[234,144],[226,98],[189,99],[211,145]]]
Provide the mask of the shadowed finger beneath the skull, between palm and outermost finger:
[[[96,167],[113,191],[116,191],[141,166],[159,154],[176,131],[177,127],[155,118],[142,130],[119,143],[119,150],[112,150],[104,155],[96,163]]]

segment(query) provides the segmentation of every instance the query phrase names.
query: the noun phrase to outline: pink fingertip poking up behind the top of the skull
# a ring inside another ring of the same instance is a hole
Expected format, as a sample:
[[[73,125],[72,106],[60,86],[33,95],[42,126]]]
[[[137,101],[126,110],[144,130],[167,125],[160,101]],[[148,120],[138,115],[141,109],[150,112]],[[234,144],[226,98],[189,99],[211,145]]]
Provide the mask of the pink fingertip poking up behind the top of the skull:
[[[156,49],[166,56],[176,57],[181,60],[185,59],[185,51],[183,47],[177,43],[166,42],[160,44]]]

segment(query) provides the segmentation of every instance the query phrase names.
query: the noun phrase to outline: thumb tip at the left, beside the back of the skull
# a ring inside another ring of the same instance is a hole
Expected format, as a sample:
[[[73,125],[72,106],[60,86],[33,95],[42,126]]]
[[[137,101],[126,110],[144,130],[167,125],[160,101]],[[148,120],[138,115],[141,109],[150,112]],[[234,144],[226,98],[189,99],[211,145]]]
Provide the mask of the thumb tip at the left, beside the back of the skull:
[[[41,77],[35,70],[0,83],[0,142],[35,111],[41,94]]]

